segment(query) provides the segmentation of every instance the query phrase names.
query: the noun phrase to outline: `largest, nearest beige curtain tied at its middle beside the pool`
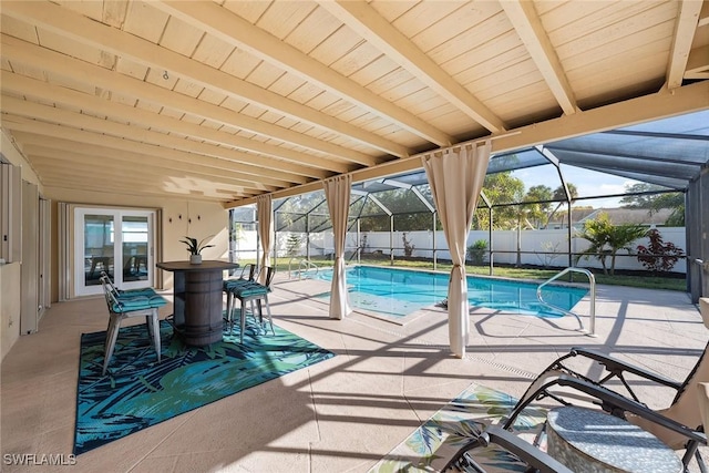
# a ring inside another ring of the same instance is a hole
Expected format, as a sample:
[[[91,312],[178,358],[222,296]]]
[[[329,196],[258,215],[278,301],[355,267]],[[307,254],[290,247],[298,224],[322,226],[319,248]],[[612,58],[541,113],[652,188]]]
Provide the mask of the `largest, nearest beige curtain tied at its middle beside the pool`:
[[[421,158],[453,261],[448,286],[448,331],[451,351],[459,358],[465,356],[470,331],[465,243],[487,172],[490,150],[487,141],[474,148],[462,146],[460,151]]]

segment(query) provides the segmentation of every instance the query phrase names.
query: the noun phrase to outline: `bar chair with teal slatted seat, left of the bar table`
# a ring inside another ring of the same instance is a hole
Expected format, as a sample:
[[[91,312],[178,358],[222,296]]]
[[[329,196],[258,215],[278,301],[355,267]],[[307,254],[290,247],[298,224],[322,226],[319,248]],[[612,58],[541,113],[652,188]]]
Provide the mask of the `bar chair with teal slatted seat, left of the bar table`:
[[[160,363],[161,339],[157,309],[166,305],[167,300],[165,300],[165,298],[160,295],[119,297],[115,288],[110,285],[110,278],[107,276],[101,277],[101,285],[103,286],[106,306],[109,307],[109,327],[106,329],[103,370],[101,371],[101,376],[104,376],[106,373],[109,363],[111,362],[111,358],[113,358],[113,351],[115,349],[115,342],[119,338],[121,322],[124,319],[131,317],[145,317],[147,335],[153,342],[153,348],[155,349],[155,353],[157,354],[157,362]]]

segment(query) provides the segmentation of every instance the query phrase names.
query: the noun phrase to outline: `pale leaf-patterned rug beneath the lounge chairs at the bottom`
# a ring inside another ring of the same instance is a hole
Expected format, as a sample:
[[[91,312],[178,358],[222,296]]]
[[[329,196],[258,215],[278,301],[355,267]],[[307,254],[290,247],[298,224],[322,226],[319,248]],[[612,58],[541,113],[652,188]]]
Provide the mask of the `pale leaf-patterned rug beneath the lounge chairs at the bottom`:
[[[485,425],[501,423],[516,402],[504,392],[471,384],[389,452],[369,473],[441,471],[460,445],[477,436]],[[532,442],[545,421],[545,410],[527,408],[517,417],[515,433]],[[475,460],[490,472],[525,471],[514,455],[494,445],[476,449]],[[473,470],[461,461],[453,471]]]

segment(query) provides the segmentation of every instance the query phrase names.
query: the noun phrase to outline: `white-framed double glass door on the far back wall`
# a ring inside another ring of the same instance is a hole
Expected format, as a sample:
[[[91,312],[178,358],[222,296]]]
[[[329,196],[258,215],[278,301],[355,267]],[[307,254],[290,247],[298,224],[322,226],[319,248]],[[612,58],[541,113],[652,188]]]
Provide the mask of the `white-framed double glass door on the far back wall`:
[[[74,294],[101,294],[103,271],[120,288],[153,286],[154,212],[76,208]]]

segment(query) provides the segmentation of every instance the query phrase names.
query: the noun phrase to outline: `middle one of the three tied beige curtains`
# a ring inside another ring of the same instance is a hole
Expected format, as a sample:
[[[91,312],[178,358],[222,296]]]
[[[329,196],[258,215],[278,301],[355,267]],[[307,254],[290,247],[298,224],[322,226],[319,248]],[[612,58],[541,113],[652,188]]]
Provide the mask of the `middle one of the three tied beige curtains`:
[[[333,319],[342,319],[352,311],[347,296],[347,276],[345,274],[345,238],[347,236],[347,216],[350,212],[351,185],[352,176],[348,174],[322,182],[335,238],[335,268],[332,268],[332,287],[330,289],[330,317]]]

